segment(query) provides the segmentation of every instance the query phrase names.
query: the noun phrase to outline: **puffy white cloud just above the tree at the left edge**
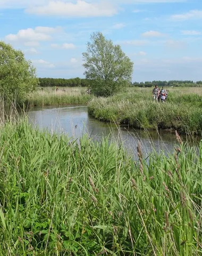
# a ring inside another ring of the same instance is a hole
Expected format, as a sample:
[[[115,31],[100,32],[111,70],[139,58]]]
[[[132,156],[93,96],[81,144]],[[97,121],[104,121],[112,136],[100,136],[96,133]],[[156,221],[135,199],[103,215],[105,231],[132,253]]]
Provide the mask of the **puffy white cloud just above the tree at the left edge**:
[[[52,33],[55,33],[58,28],[51,27],[36,27],[35,29],[27,28],[21,29],[17,34],[9,34],[5,37],[7,41],[49,41],[52,39]]]

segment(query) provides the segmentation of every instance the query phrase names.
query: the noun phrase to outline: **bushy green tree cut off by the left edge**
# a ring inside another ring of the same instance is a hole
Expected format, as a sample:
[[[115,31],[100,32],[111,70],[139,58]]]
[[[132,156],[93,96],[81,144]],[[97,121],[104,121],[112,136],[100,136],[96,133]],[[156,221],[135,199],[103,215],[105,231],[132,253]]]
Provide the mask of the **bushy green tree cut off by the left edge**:
[[[36,89],[38,79],[31,61],[20,50],[0,41],[0,94],[1,98],[21,103]]]

